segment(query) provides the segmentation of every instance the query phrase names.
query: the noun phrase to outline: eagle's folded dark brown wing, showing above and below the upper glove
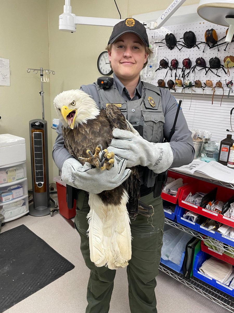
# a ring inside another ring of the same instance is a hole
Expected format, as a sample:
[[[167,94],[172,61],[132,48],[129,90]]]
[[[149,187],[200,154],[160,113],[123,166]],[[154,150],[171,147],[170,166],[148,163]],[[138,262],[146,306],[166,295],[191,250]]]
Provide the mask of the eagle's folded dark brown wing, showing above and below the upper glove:
[[[129,130],[128,124],[124,115],[114,104],[109,104],[106,107],[106,115],[110,121],[112,129],[119,128]],[[128,213],[131,219],[135,219],[138,214],[138,200],[140,199],[140,178],[138,166],[131,167],[130,176],[123,182],[122,186],[129,195],[127,203]]]

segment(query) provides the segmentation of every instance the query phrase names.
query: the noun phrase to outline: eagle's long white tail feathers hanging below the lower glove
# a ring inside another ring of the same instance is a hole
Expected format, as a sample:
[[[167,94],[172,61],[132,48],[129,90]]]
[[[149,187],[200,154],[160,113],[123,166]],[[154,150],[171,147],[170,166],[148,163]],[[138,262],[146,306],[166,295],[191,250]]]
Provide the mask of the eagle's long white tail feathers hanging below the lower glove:
[[[117,206],[104,205],[101,198],[89,194],[90,259],[96,266],[118,269],[128,265],[131,259],[131,230],[126,208],[128,194],[124,190]]]

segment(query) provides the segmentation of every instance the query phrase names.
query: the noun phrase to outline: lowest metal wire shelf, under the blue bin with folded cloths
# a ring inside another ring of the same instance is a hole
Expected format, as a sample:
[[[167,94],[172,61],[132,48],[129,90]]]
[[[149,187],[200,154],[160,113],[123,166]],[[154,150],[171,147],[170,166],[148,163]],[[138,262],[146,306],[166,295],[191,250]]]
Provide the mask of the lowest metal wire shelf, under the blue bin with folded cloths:
[[[169,269],[167,266],[161,263],[159,265],[159,269],[175,280],[178,280],[183,285],[186,285],[189,288],[195,290],[200,295],[203,295],[207,299],[212,300],[228,311],[234,313],[234,298],[232,296],[227,295],[226,293],[217,290],[215,287],[209,286],[200,280],[197,280],[193,276],[192,278],[185,280],[182,274],[175,272],[173,269]]]

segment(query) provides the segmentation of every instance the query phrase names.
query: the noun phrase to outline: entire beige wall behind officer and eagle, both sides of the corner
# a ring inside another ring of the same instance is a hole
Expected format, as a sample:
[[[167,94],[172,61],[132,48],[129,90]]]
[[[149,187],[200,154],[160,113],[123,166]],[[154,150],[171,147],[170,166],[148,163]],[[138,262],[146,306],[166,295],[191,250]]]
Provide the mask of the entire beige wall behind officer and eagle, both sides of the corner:
[[[172,0],[118,0],[122,18],[134,14],[162,10]],[[198,3],[187,0],[184,5]],[[157,7],[155,6],[157,4]],[[0,86],[0,133],[10,133],[26,139],[27,175],[31,182],[29,126],[41,118],[40,77],[28,74],[27,68],[50,68],[56,72],[50,83],[44,84],[45,119],[48,122],[48,154],[50,182],[58,176],[51,152],[56,138],[51,121],[56,118],[54,97],[63,90],[93,83],[100,73],[97,57],[105,50],[112,28],[77,25],[76,33],[58,30],[58,16],[65,0],[0,0],[0,57],[10,59],[11,86]],[[108,6],[97,0],[71,0],[72,13],[77,16],[119,18],[114,1]],[[48,27],[49,25],[49,27]]]

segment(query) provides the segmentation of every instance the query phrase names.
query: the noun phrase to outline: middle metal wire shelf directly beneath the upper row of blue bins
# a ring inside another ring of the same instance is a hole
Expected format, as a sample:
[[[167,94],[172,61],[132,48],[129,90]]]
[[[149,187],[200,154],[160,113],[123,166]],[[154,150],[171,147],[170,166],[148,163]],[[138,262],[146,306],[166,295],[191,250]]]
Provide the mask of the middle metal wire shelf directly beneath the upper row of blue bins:
[[[217,241],[216,239],[214,238],[210,238],[202,233],[198,233],[196,232],[195,230],[192,230],[186,226],[183,226],[175,221],[172,221],[170,220],[169,218],[166,218],[165,217],[165,223],[170,225],[170,226],[173,226],[175,228],[178,228],[180,230],[182,230],[183,232],[185,233],[189,233],[190,235],[198,238],[198,239],[201,239],[203,241],[206,241],[207,243],[209,244],[212,244],[213,246],[217,247],[217,248],[220,248],[220,249],[227,249],[229,251],[229,253],[233,254],[234,255],[234,248],[233,249],[230,249],[230,247],[227,245],[227,244],[224,244],[224,243],[221,243],[219,241]]]

